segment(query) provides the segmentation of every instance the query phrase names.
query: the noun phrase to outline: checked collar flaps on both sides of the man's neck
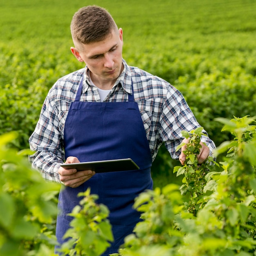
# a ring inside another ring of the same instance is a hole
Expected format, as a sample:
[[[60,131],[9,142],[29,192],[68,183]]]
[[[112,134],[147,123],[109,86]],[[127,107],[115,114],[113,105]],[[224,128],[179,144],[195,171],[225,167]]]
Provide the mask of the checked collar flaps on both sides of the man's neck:
[[[131,73],[130,67],[127,65],[124,59],[123,59],[123,65],[124,65],[124,70],[121,72],[121,74],[117,78],[117,81],[115,82],[114,87],[120,84],[125,92],[132,94],[132,73]],[[88,85],[90,85],[88,70],[89,70],[88,67],[85,66],[84,81],[86,81],[86,84],[84,84],[84,86],[86,87],[86,90],[88,88]]]

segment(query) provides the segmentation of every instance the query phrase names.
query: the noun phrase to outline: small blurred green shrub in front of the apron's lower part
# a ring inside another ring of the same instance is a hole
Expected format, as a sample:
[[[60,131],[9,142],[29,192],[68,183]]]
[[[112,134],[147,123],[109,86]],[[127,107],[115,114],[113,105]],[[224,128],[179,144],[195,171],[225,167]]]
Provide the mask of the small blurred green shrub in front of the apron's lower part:
[[[98,256],[110,246],[113,241],[111,225],[107,219],[108,207],[97,204],[98,195],[91,195],[90,189],[78,196],[83,197],[80,205],[77,205],[70,213],[74,219],[70,223],[70,229],[64,238],[70,238],[65,242],[60,252],[64,255]]]

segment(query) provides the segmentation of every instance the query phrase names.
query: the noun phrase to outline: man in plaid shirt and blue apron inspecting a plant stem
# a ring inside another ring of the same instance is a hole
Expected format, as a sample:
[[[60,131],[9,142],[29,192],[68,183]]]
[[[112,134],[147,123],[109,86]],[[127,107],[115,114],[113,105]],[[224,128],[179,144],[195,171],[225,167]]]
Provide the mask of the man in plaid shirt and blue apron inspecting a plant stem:
[[[70,213],[79,203],[77,194],[91,188],[110,209],[115,242],[103,255],[117,252],[132,233],[140,214],[134,198],[152,189],[150,167],[164,142],[171,156],[184,164],[184,153],[175,152],[181,130],[193,130],[196,121],[182,94],[169,83],[122,58],[123,31],[103,8],[88,6],[71,22],[71,52],[86,67],[59,79],[49,90],[40,119],[29,142],[34,168],[47,180],[65,185],[59,195],[62,210],[56,236],[69,228]],[[183,140],[188,142],[187,140]],[[215,148],[202,138],[199,163]],[[182,150],[185,149],[185,146]],[[94,173],[64,169],[60,164],[132,158],[138,171]]]

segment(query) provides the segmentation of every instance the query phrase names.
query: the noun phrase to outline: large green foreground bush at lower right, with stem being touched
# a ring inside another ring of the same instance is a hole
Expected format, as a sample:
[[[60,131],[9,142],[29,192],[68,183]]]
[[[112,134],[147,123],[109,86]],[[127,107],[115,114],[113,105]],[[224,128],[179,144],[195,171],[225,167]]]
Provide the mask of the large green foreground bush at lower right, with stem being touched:
[[[254,120],[248,117],[219,121],[235,136],[218,148],[218,153],[228,150],[225,162],[199,176],[200,130],[191,131],[195,140],[186,164],[175,170],[184,173],[181,193],[169,184],[139,195],[135,207],[143,211],[144,221],[126,237],[119,256],[256,255],[256,126],[249,125]]]

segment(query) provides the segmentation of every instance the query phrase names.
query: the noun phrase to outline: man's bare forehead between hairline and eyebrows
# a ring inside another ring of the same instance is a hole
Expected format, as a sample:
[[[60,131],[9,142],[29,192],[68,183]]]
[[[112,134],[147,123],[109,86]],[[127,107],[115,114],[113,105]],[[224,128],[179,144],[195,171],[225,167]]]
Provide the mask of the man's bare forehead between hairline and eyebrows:
[[[86,57],[100,55],[108,52],[110,49],[119,44],[119,35],[112,31],[109,36],[99,42],[93,42],[88,44],[80,44],[79,49]]]

